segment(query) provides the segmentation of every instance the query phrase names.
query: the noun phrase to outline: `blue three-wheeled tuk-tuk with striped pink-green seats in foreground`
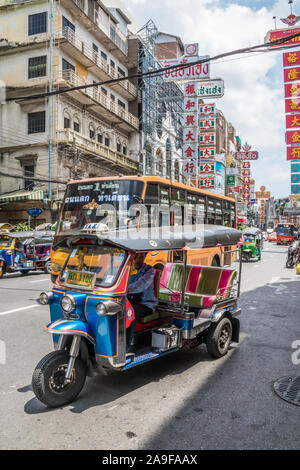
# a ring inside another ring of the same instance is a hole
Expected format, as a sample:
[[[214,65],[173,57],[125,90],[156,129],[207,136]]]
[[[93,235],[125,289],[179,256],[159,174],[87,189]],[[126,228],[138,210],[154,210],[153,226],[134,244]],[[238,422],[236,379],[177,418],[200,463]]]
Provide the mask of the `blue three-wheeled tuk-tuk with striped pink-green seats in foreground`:
[[[41,402],[57,407],[73,401],[94,372],[126,371],[202,343],[219,358],[239,341],[241,262],[239,270],[188,265],[187,252],[237,245],[241,233],[212,225],[179,229],[135,230],[138,237],[132,229],[126,236],[80,232],[61,241],[68,257],[52,291],[40,295],[40,303],[50,307],[45,330],[55,349],[33,372],[33,391]],[[162,271],[149,267],[155,271],[157,307],[139,316],[134,350],[127,352],[136,308],[129,278],[136,256],[153,249],[182,251],[183,262],[167,263]]]

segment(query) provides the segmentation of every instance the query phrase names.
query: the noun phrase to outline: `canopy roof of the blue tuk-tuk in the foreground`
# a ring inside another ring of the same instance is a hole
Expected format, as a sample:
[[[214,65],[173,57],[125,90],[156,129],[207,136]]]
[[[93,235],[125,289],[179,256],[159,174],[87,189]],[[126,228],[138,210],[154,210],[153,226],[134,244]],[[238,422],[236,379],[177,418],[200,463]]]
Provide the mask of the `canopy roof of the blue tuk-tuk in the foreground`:
[[[168,226],[158,228],[115,230],[102,233],[74,233],[57,246],[78,243],[90,238],[98,244],[111,244],[129,251],[196,250],[217,245],[236,245],[241,239],[239,230],[221,225]]]

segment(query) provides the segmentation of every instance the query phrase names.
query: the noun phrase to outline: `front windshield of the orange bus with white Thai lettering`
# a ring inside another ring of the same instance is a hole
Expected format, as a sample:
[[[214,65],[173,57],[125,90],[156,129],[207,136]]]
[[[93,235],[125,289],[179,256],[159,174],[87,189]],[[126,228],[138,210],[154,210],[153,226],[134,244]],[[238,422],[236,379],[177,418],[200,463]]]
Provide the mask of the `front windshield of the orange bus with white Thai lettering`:
[[[137,180],[83,181],[67,187],[57,234],[70,235],[89,224],[126,226],[127,210],[141,202],[144,183]],[[114,221],[114,210],[118,217]],[[122,217],[122,213],[124,217]]]

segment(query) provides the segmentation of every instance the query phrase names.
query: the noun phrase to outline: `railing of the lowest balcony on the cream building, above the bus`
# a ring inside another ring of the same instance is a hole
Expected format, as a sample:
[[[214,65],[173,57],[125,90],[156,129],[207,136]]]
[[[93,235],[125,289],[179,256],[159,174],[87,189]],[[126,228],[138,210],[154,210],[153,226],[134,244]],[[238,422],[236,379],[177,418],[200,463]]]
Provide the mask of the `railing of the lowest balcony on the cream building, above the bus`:
[[[83,136],[79,132],[73,131],[72,129],[59,129],[56,133],[57,141],[72,142],[75,145],[83,148],[85,151],[92,152],[96,155],[99,155],[106,160],[109,160],[111,163],[120,165],[122,167],[127,167],[130,170],[138,171],[139,163],[132,160],[127,155],[124,155],[120,152],[112,150],[106,145],[92,140],[88,137]]]

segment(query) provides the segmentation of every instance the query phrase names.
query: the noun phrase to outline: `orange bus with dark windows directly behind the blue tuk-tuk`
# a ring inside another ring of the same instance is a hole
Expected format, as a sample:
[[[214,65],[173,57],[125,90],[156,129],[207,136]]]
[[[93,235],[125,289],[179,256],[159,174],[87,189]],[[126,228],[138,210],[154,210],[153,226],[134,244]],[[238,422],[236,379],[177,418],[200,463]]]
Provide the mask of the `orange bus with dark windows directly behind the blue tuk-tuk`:
[[[59,242],[66,235],[100,224],[124,227],[164,227],[181,224],[237,227],[235,199],[156,176],[91,178],[68,183],[52,249],[53,280],[64,264]],[[234,250],[235,247],[232,247]],[[188,262],[206,266],[230,265],[231,247],[191,252]],[[155,252],[146,262],[162,269],[166,262],[180,262],[182,252]]]

